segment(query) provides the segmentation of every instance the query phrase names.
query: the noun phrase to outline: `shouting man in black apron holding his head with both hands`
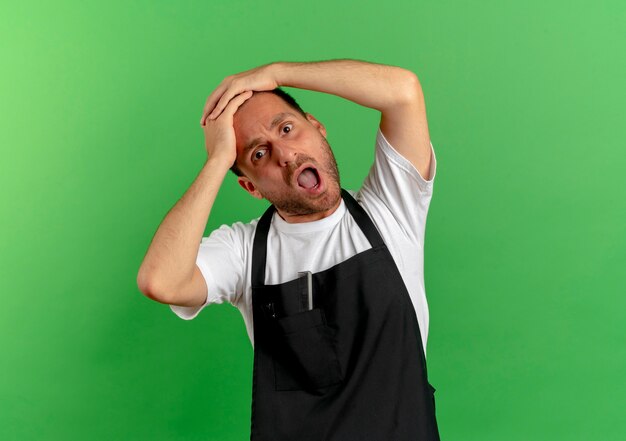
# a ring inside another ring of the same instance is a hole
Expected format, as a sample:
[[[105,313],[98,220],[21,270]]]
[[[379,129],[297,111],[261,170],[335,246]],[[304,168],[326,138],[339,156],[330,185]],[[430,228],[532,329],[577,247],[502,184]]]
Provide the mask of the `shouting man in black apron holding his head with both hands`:
[[[341,189],[324,125],[280,86],[381,112],[358,193]],[[207,161],[138,285],[184,319],[212,303],[240,309],[254,347],[251,439],[438,440],[423,282],[436,160],[417,77],[353,60],[273,63],[227,77],[200,123]],[[202,238],[229,168],[272,205]]]

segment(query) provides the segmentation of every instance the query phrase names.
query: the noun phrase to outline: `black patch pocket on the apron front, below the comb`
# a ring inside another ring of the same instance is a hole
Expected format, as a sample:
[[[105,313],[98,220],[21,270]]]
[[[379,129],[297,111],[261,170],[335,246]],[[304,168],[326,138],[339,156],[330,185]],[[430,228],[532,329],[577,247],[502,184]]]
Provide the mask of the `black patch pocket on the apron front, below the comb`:
[[[343,379],[334,331],[320,308],[281,317],[276,325],[276,390],[315,390]]]

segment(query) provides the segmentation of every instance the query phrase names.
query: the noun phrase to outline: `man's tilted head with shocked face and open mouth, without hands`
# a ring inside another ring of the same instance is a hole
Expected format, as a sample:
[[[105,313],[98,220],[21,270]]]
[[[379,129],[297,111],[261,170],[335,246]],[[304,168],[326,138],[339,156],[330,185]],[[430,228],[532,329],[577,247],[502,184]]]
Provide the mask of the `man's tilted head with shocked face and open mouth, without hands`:
[[[272,93],[255,93],[235,113],[239,184],[270,201],[288,222],[331,214],[341,201],[339,171],[324,126]]]

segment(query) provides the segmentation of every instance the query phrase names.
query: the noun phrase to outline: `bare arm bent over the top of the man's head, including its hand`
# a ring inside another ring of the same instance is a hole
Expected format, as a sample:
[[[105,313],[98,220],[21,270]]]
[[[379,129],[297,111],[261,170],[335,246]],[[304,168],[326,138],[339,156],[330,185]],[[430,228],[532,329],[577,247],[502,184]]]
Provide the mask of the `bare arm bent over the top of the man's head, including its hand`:
[[[428,179],[431,155],[424,95],[417,76],[400,67],[356,60],[268,64],[226,77],[207,99],[200,122],[219,116],[241,92],[280,86],[329,93],[380,111],[383,135]]]

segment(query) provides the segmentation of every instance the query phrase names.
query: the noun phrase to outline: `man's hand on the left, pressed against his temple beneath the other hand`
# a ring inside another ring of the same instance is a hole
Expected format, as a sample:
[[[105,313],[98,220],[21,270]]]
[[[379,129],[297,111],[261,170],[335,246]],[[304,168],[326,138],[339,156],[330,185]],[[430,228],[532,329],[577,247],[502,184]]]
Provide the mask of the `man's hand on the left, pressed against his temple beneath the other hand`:
[[[214,159],[228,165],[230,168],[237,159],[237,147],[233,116],[243,103],[251,96],[252,91],[243,92],[232,98],[220,116],[214,120],[207,119],[202,126],[207,159]]]

